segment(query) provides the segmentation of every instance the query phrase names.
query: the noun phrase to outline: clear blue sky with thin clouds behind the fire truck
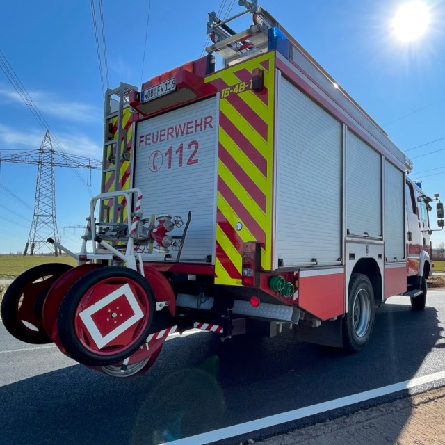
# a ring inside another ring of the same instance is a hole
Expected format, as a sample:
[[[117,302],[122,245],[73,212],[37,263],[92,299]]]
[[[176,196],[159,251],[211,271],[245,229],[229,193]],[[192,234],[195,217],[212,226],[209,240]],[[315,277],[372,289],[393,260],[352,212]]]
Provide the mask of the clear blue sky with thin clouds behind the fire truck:
[[[102,3],[111,88],[120,81],[140,86],[141,81],[199,58],[207,38],[207,12],[222,4],[152,0],[143,68],[149,1]],[[223,14],[230,3],[225,2]],[[241,10],[238,1],[234,3],[233,13]],[[403,0],[263,0],[259,5],[401,149],[409,150],[412,177],[423,180],[426,193],[439,192],[445,199],[445,2],[426,3],[432,22],[426,35],[410,45],[391,34],[391,20]],[[95,6],[99,26],[97,0]],[[0,49],[60,143],[67,152],[99,159],[103,99],[90,1],[8,1],[2,3],[1,15]],[[248,19],[239,19],[236,27],[247,25]],[[0,150],[38,149],[43,137],[44,130],[0,72]],[[433,140],[437,142],[430,143]],[[419,145],[423,147],[412,149]],[[79,170],[84,178],[85,171]],[[28,204],[0,190],[0,252],[24,248],[36,173],[35,165],[0,166],[0,183]],[[99,172],[94,172],[91,191],[99,189]],[[88,189],[72,170],[56,169],[59,232],[74,250],[79,250],[81,231],[74,234],[64,227],[84,223],[89,200]],[[445,232],[435,235],[433,244],[445,242]]]

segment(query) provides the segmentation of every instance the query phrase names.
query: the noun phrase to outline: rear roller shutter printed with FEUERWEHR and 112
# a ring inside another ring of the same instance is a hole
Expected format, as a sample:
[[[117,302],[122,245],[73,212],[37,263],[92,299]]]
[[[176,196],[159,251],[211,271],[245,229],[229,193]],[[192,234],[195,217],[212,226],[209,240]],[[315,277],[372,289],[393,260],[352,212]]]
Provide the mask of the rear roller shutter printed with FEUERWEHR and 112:
[[[214,254],[216,228],[216,97],[140,122],[136,131],[134,186],[143,191],[142,211],[169,213],[186,222],[192,213],[181,261]],[[174,229],[181,234],[184,227]],[[176,253],[171,251],[174,258]],[[163,254],[146,259],[159,261]]]

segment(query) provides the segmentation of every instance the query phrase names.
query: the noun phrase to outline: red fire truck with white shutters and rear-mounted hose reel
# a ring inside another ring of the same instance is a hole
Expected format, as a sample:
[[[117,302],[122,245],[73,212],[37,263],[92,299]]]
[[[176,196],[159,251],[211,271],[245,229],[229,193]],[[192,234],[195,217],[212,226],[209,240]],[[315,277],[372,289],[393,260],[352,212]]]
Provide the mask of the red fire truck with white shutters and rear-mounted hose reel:
[[[252,26],[209,14],[207,56],[106,92],[102,193],[81,250],[48,240],[78,266],[10,285],[1,316],[17,339],[128,377],[173,332],[291,327],[358,351],[387,298],[425,306],[438,195],[257,1],[240,4]]]

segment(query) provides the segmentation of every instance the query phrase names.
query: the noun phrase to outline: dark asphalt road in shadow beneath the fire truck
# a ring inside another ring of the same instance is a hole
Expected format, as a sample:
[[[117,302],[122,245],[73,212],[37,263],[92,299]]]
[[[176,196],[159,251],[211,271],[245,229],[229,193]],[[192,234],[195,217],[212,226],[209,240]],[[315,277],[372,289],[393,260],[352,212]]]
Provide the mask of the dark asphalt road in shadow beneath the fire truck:
[[[0,323],[0,444],[160,444],[444,371],[445,291],[429,291],[423,312],[412,312],[407,298],[390,301],[378,310],[373,339],[358,354],[298,344],[291,332],[225,343],[200,333],[165,342],[149,373],[125,380],[75,364],[53,346],[15,341]],[[418,390],[439,385],[444,381]]]

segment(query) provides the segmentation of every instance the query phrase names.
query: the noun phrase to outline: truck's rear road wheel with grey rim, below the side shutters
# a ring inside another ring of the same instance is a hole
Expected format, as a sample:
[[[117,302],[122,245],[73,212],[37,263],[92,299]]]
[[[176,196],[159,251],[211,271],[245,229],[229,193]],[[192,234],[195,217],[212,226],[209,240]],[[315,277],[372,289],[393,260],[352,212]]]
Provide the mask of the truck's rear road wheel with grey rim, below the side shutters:
[[[343,319],[343,349],[357,352],[369,343],[374,327],[375,300],[369,278],[353,273],[348,295],[348,313]]]

